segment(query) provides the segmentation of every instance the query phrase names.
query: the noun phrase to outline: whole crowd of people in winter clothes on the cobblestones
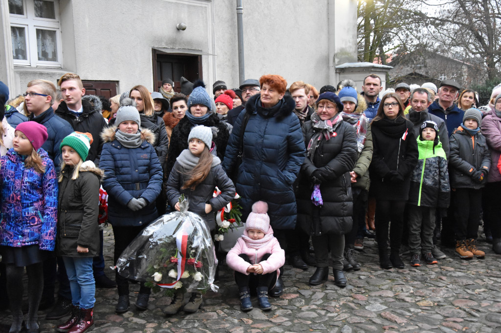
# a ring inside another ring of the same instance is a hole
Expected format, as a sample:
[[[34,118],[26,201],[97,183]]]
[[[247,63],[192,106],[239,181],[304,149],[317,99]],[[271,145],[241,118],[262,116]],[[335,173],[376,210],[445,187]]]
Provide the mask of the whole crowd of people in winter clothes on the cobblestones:
[[[437,264],[446,257],[438,243],[462,259],[483,258],[483,216],[485,238],[501,254],[501,84],[485,106],[454,80],[382,91],[375,74],[360,92],[350,79],[317,91],[303,81],[288,87],[280,75],[234,89],[218,80],[213,98],[184,77],[181,93],[167,78],[158,91],[136,85],[109,100],[86,95],[75,73],[58,87],[35,79],[9,100],[0,82],[0,295],[11,333],[38,332],[37,311],[51,306],[46,319],[67,319],[58,331],[84,333],[94,325],[96,287],[116,286],[115,310],[128,311],[131,281],[104,273],[101,222],[113,228],[117,261],[150,222],[179,210],[181,195],[212,236],[215,212],[240,196],[246,223],[226,262],[243,311],[252,295],[269,310],[268,296],[283,293],[286,254],[294,267],[316,267],[309,284],[326,281],[332,266],[334,283],[346,286],[345,271],[364,263],[355,249],[367,236],[383,269]],[[137,309],[150,292],[140,282]],[[183,298],[172,297],[164,313],[202,303],[198,292]]]

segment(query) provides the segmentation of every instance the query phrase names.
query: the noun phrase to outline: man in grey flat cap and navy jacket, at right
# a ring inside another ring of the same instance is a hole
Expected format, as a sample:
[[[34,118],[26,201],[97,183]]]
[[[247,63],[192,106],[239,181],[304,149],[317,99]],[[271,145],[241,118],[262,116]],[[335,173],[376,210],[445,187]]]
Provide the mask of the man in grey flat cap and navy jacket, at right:
[[[442,118],[449,136],[463,121],[464,111],[454,103],[461,85],[454,80],[443,80],[438,89],[438,100],[428,106],[428,112]]]

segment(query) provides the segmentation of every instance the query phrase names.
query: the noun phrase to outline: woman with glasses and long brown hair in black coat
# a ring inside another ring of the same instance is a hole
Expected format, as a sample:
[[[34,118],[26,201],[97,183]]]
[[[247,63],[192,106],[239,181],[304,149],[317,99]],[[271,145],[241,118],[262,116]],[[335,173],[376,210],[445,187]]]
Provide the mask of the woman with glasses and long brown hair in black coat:
[[[410,174],[417,164],[418,151],[412,122],[405,119],[404,107],[396,93],[381,99],[371,122],[374,152],[369,166],[370,192],[376,197],[376,240],[381,268],[403,268],[402,244],[404,208],[409,198]],[[388,226],[390,224],[388,255]]]

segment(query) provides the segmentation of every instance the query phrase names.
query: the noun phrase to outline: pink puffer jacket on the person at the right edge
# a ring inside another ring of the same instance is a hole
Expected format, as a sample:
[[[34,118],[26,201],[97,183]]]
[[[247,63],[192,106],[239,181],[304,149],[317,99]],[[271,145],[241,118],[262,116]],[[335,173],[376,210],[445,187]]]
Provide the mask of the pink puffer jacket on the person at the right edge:
[[[482,134],[487,140],[492,163],[497,163],[501,154],[501,118],[494,111],[488,111],[482,119]],[[487,182],[501,181],[501,173],[497,167],[491,167],[487,174]]]

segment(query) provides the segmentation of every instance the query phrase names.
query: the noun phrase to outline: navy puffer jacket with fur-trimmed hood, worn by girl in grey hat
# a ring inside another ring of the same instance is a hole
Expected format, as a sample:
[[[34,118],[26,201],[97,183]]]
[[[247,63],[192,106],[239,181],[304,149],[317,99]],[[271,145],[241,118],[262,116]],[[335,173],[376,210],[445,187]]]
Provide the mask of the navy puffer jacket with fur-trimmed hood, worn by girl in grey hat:
[[[115,226],[139,226],[158,217],[155,200],[162,189],[162,166],[151,142],[155,135],[141,129],[143,143],[126,148],[115,138],[116,127],[105,128],[101,134],[105,144],[99,167],[104,170],[103,188],[108,192],[108,215]],[[132,211],[127,203],[144,198],[146,207]]]

